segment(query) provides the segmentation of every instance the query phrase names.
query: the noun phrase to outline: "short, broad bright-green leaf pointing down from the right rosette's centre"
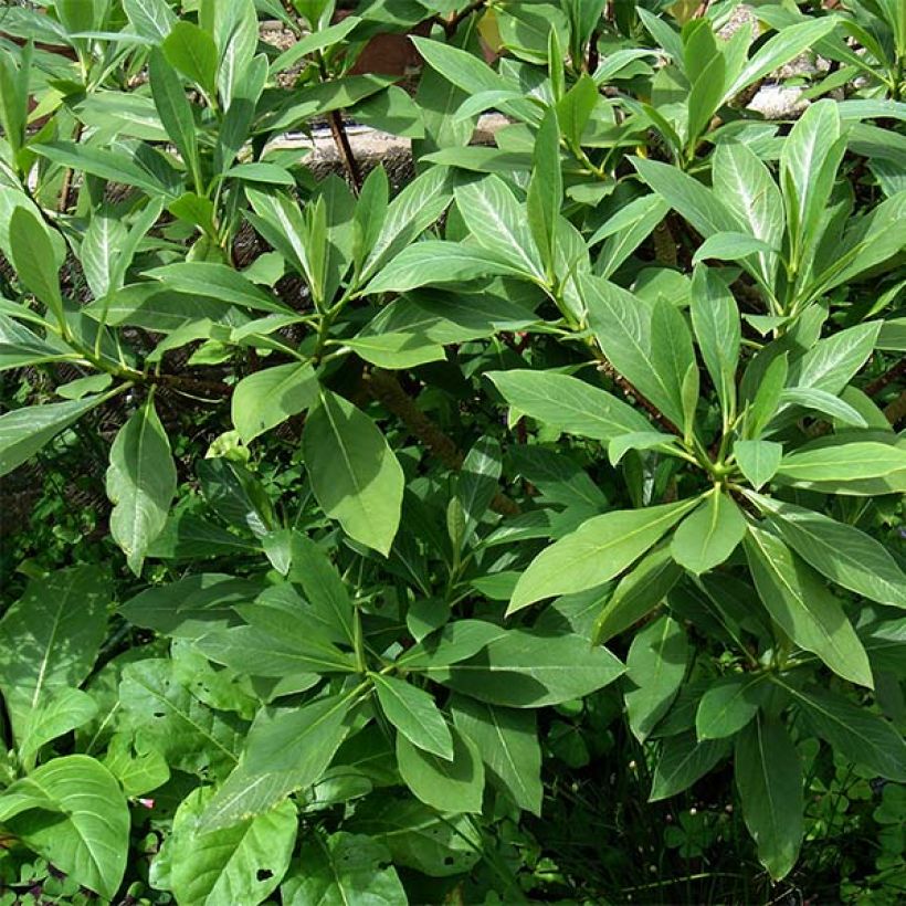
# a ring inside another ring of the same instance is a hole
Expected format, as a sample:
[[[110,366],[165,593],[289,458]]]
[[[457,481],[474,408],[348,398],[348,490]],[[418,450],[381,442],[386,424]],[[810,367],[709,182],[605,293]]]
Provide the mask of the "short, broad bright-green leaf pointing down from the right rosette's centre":
[[[673,533],[670,550],[680,566],[697,575],[723,563],[746,534],[746,518],[734,499],[717,487]]]

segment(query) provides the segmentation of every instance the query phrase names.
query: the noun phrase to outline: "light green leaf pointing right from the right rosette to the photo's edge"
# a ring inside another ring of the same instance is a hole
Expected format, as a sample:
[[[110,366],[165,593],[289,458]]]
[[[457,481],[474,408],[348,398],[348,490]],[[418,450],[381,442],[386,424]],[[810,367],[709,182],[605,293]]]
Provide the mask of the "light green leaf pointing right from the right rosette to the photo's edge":
[[[777,478],[783,484],[808,487],[820,482],[879,478],[904,468],[906,450],[874,441],[853,441],[790,453],[781,460]]]

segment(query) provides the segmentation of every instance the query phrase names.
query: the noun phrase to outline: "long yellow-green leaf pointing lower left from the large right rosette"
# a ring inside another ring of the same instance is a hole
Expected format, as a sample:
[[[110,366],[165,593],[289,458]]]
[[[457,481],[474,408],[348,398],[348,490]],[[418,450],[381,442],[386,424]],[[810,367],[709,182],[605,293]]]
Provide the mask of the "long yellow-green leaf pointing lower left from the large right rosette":
[[[653,547],[696,504],[697,499],[682,501],[588,519],[529,563],[519,577],[507,613],[542,598],[584,591],[612,579]]]

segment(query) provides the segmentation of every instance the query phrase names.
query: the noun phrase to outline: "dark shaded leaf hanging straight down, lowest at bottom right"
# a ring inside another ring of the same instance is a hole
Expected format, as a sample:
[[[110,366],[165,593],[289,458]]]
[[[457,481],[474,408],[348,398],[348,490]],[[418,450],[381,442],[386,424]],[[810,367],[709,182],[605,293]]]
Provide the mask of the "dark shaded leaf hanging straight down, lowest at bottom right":
[[[776,717],[759,715],[736,737],[736,787],[758,858],[775,881],[788,875],[802,844],[802,767]]]

